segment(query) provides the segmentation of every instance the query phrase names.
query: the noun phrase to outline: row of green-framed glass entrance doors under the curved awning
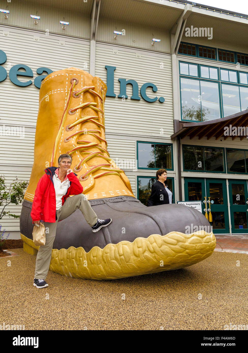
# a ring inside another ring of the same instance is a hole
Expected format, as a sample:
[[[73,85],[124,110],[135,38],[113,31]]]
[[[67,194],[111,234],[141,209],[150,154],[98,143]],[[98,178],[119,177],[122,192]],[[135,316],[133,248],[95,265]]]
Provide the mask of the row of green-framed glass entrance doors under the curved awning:
[[[231,231],[235,233],[248,233],[247,209],[248,189],[246,180],[229,179],[228,189],[226,179],[184,178],[185,201],[202,201],[204,208],[211,210],[213,231],[216,234],[229,233],[229,205],[227,190],[229,192]],[[207,207],[203,203],[207,197]],[[209,211],[207,211],[209,215]]]

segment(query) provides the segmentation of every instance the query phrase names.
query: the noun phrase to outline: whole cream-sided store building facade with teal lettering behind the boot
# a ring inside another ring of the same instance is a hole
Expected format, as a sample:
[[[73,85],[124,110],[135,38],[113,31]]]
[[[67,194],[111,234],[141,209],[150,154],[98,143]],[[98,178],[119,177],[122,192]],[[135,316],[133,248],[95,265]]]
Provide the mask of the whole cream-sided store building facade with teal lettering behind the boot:
[[[248,233],[248,16],[169,0],[0,0],[0,9],[10,11],[0,12],[7,185],[31,174],[42,78],[77,67],[108,86],[108,151],[141,202],[165,168],[174,203],[209,200],[202,212],[215,233]],[[20,238],[18,219],[1,223]]]

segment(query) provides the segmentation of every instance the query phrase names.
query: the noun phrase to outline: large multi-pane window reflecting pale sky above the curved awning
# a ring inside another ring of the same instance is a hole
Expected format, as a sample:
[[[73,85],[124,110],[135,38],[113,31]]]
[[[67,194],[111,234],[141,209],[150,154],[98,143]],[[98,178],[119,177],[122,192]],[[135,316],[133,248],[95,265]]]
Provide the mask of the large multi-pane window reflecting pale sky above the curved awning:
[[[248,109],[248,73],[183,61],[179,70],[182,120],[215,120]]]

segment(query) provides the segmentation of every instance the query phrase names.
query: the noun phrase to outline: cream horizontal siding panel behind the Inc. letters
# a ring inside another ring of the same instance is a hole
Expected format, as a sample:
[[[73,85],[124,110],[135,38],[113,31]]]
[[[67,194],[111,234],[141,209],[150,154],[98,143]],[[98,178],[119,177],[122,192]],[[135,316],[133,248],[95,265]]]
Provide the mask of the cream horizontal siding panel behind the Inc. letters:
[[[113,49],[117,54],[113,54]],[[136,53],[140,55],[136,57]],[[134,134],[169,138],[173,130],[172,106],[172,72],[171,55],[144,52],[137,49],[122,48],[108,44],[96,43],[96,71],[95,75],[106,82],[105,65],[115,66],[114,92],[116,97],[106,97],[105,127],[106,133]],[[147,95],[164,97],[165,102],[158,100],[148,103],[140,99],[131,100],[132,86],[127,85],[128,98],[118,98],[120,94],[119,78],[133,79],[140,87],[151,82],[158,88],[152,92],[146,90]],[[161,136],[163,128],[163,136]]]

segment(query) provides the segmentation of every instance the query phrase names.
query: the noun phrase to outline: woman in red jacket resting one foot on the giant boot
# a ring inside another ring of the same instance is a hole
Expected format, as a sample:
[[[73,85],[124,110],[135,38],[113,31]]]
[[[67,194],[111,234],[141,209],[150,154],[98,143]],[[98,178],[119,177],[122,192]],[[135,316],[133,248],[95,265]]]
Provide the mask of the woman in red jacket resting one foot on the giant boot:
[[[87,198],[82,194],[83,188],[77,174],[70,169],[71,156],[67,154],[59,156],[58,166],[45,169],[46,174],[40,178],[35,190],[31,210],[33,223],[40,224],[42,220],[46,228],[46,244],[40,246],[36,257],[34,286],[37,288],[48,286],[45,279],[59,220],[69,217],[75,210],[80,209],[93,232],[98,232],[111,223],[111,218],[98,219]],[[67,200],[69,195],[74,196]]]

